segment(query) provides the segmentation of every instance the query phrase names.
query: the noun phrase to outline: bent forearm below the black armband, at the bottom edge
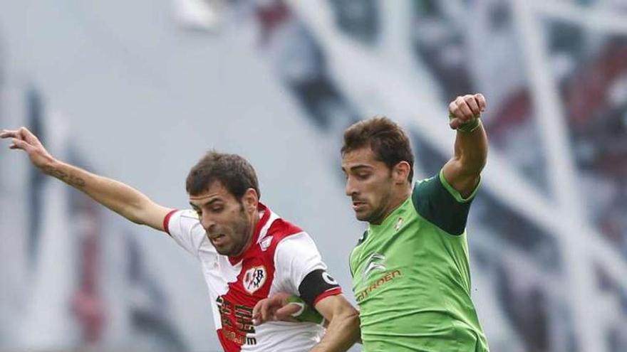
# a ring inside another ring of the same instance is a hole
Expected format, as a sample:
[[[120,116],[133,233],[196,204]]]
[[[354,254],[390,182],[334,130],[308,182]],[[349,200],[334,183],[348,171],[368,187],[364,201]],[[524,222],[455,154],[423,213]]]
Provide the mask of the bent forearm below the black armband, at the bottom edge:
[[[333,316],[328,324],[326,334],[311,352],[347,351],[360,340],[359,314],[347,311]]]

